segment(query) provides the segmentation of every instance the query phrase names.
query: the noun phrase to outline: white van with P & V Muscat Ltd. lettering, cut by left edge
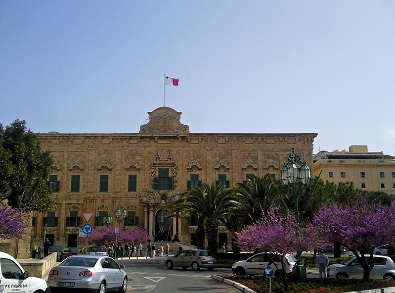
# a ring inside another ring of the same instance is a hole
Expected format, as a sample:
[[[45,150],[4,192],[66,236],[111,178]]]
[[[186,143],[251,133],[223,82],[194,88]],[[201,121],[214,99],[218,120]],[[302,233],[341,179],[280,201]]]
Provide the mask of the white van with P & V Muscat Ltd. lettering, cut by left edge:
[[[21,265],[8,253],[0,251],[1,293],[50,293],[48,283],[40,278],[29,277]]]

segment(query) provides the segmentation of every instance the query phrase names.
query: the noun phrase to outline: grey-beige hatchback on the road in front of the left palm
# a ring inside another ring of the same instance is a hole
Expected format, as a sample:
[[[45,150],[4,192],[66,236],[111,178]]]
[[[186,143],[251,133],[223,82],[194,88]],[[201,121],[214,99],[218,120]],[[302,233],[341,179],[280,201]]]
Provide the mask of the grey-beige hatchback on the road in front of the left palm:
[[[186,249],[178,252],[175,256],[169,256],[165,263],[169,270],[172,270],[173,267],[181,267],[183,270],[191,267],[194,271],[198,271],[200,268],[212,271],[217,264],[217,259],[209,250]]]

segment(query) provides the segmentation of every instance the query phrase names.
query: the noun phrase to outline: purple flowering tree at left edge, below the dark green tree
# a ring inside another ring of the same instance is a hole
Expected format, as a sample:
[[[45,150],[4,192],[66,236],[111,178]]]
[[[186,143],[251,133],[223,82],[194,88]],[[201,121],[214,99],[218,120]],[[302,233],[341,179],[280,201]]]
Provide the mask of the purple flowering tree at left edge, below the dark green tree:
[[[17,209],[0,201],[0,241],[13,238],[21,239],[28,227],[26,213],[20,213]]]

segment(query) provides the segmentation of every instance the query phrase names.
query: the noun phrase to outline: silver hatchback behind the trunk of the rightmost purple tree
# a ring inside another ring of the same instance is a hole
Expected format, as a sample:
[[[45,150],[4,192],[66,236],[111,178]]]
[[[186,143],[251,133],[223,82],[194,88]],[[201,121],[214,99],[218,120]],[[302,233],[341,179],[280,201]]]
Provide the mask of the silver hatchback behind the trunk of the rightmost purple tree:
[[[370,257],[365,255],[365,257]],[[370,279],[395,280],[394,261],[383,255],[373,256],[373,269],[370,272]],[[338,279],[362,279],[363,268],[356,259],[356,256],[350,256],[341,263],[328,266],[328,275],[331,278]]]

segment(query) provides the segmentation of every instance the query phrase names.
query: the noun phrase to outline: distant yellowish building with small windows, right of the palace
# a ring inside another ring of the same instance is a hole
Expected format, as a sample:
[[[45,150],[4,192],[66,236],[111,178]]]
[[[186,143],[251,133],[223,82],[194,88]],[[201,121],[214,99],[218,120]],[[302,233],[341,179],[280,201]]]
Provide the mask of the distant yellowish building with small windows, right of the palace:
[[[395,157],[369,152],[367,146],[320,151],[313,157],[314,175],[333,183],[353,182],[355,188],[395,194]]]

